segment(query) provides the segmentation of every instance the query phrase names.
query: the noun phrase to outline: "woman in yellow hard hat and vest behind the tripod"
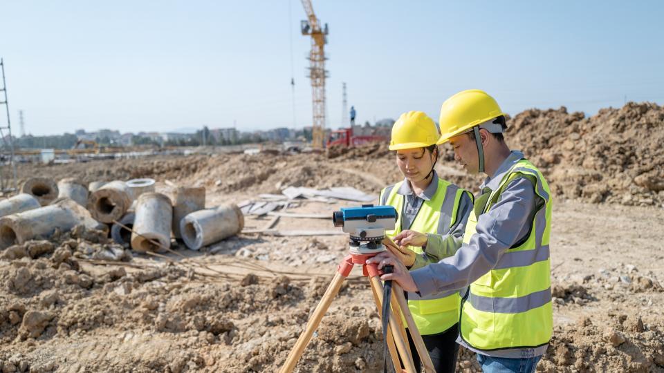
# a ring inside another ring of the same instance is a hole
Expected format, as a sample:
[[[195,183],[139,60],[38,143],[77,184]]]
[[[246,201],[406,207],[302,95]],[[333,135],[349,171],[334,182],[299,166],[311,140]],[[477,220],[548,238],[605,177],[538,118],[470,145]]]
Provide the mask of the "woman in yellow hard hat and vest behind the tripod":
[[[438,177],[440,135],[434,121],[421,111],[409,111],[392,126],[389,150],[404,180],[380,192],[380,204],[399,212],[396,229],[387,232],[397,245],[414,252],[405,263],[410,269],[452,256],[461,247],[465,223],[472,210],[472,194]],[[408,293],[408,308],[422,334],[436,372],[454,372],[457,365],[459,294],[421,298]],[[410,333],[411,350],[416,351]],[[420,359],[413,354],[416,370]]]

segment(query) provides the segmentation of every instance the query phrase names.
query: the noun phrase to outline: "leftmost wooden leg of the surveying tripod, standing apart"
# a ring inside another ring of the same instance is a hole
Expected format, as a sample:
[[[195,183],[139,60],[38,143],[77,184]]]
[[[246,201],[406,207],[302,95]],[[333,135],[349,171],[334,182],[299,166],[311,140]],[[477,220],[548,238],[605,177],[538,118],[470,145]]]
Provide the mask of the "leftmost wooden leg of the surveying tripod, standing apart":
[[[297,342],[295,342],[293,350],[291,350],[291,353],[288,354],[288,358],[286,358],[286,363],[284,363],[284,366],[282,366],[282,369],[279,370],[279,372],[282,373],[293,372],[295,364],[297,364],[299,358],[302,357],[302,354],[304,353],[304,348],[306,347],[306,345],[308,345],[309,341],[311,341],[311,336],[313,335],[313,332],[315,332],[318,325],[320,324],[321,319],[323,318],[323,316],[325,316],[325,313],[327,312],[327,309],[330,307],[332,300],[339,293],[339,289],[341,289],[341,285],[342,283],[344,283],[345,279],[346,278],[342,276],[340,273],[338,272],[335,273],[334,278],[332,278],[332,282],[330,283],[329,287],[327,287],[327,290],[325,291],[325,294],[323,294],[323,297],[320,299],[320,303],[318,303],[316,308],[313,310],[311,318],[309,318],[309,321],[306,323],[306,327],[304,327],[302,334],[300,334],[299,338],[297,338]]]

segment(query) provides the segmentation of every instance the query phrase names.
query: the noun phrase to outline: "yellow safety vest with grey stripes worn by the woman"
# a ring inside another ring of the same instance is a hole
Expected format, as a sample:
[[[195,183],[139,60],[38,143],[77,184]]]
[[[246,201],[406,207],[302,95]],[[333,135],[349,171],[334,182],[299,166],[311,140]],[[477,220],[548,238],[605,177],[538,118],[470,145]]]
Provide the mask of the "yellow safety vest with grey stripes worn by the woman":
[[[387,231],[387,236],[394,237],[401,232],[401,212],[403,211],[403,195],[396,193],[402,182],[396,183],[387,195],[385,203],[394,206],[399,212],[396,221],[396,229]],[[380,192],[380,200],[383,200],[386,189]],[[438,178],[438,189],[434,198],[423,201],[422,206],[409,229],[420,233],[448,233],[450,227],[457,221],[457,210],[461,195],[465,191],[456,185]],[[472,195],[470,195],[472,198]],[[422,254],[421,247],[411,246],[409,249],[416,254]],[[418,296],[416,293],[408,293],[408,308],[413,316],[420,334],[437,334],[444,332],[459,322],[459,297],[458,291],[447,291],[444,293],[431,294],[430,296]]]

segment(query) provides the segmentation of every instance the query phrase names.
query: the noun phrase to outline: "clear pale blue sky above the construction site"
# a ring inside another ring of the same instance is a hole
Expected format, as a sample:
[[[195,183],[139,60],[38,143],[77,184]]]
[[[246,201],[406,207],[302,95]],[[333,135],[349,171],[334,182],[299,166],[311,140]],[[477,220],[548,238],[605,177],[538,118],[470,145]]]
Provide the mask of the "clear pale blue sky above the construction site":
[[[330,128],[348,122],[342,82],[362,123],[437,121],[469,88],[510,115],[664,104],[662,1],[312,2],[329,24]],[[12,132],[19,110],[32,135],[310,126],[301,19],[298,0],[3,1]]]

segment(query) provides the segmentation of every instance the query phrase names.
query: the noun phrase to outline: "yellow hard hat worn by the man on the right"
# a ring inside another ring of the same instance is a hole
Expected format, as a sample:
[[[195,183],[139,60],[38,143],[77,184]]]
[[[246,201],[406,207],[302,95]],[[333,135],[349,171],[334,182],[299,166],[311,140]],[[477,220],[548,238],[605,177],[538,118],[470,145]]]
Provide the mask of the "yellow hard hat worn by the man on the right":
[[[483,90],[462,90],[448,98],[441,106],[441,138],[437,144],[444,144],[450,137],[457,136],[483,122],[505,115],[496,100]]]

